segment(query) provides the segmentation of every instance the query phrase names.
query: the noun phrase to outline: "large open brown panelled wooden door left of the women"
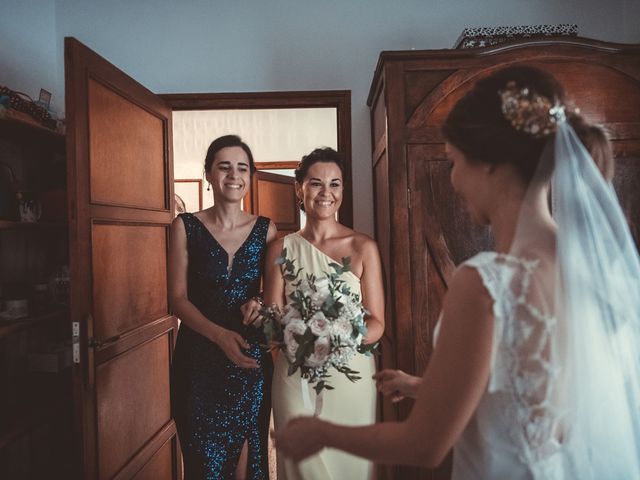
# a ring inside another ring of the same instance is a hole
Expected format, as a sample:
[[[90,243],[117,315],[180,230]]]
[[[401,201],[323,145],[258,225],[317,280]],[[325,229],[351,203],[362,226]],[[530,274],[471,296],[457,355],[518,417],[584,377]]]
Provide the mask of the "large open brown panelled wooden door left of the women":
[[[78,478],[178,478],[166,253],[171,111],[65,39]]]

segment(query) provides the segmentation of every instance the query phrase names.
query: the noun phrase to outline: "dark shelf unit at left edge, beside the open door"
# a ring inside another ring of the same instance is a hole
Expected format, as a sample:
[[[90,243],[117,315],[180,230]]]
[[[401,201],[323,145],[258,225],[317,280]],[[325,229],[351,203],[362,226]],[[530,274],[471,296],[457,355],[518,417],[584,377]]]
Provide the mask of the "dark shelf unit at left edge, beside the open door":
[[[0,163],[8,167],[0,169],[3,185],[35,199],[43,192],[64,192],[64,157],[64,135],[0,118]],[[17,295],[13,298],[27,298],[33,311],[33,286],[49,283],[53,272],[68,265],[68,223],[17,221],[15,199],[0,200],[5,202],[0,208],[0,310],[4,300]],[[66,216],[66,204],[60,203],[58,211]],[[0,478],[63,478],[69,471],[71,369],[38,373],[28,366],[29,353],[70,338],[69,310],[42,303],[50,302],[40,298],[41,313],[0,320]]]

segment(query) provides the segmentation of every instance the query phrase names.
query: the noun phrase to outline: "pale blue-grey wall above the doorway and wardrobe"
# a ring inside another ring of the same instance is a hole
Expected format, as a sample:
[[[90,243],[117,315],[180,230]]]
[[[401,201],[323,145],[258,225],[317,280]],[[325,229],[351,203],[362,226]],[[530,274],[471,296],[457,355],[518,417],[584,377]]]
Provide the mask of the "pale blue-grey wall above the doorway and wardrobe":
[[[582,36],[640,42],[638,0],[8,2],[7,9],[3,0],[0,16],[0,83],[33,91],[53,83],[55,99],[63,94],[65,35],[158,93],[352,90],[355,225],[369,233],[366,97],[381,50],[449,48],[464,27],[543,23],[577,23]],[[34,17],[45,24],[42,30],[33,26]],[[55,57],[48,48],[39,50],[48,45],[52,22]],[[12,51],[25,48],[29,55]]]

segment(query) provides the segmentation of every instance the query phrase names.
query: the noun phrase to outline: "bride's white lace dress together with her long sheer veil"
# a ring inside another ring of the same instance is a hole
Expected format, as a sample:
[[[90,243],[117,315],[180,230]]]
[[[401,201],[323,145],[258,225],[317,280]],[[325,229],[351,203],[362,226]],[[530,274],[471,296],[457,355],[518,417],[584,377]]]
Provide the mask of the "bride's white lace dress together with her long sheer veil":
[[[530,220],[551,171],[547,238]],[[463,265],[493,299],[494,333],[453,479],[640,480],[640,257],[612,185],[564,116],[510,254]]]

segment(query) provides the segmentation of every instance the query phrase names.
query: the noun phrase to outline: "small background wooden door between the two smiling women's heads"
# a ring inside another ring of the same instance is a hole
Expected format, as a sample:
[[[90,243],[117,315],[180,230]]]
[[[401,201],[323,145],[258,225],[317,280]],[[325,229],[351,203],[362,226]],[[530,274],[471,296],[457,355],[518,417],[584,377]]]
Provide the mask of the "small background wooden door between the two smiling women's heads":
[[[294,177],[260,170],[251,178],[250,211],[269,217],[280,237],[300,230],[300,208],[294,185]]]

